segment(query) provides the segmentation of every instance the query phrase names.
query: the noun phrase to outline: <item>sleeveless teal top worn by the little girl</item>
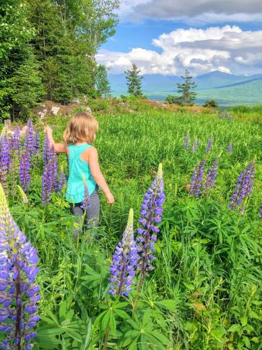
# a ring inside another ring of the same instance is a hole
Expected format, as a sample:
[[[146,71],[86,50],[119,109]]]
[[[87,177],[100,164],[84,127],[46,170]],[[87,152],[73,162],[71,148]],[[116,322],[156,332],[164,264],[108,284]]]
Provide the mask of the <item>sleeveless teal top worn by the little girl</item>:
[[[81,159],[82,153],[89,147],[89,144],[79,146],[68,145],[69,150],[69,176],[66,187],[66,200],[71,203],[82,202],[85,195],[84,182],[82,174],[85,175],[87,181],[88,195],[92,195],[96,189],[96,181],[91,174],[89,164]]]

